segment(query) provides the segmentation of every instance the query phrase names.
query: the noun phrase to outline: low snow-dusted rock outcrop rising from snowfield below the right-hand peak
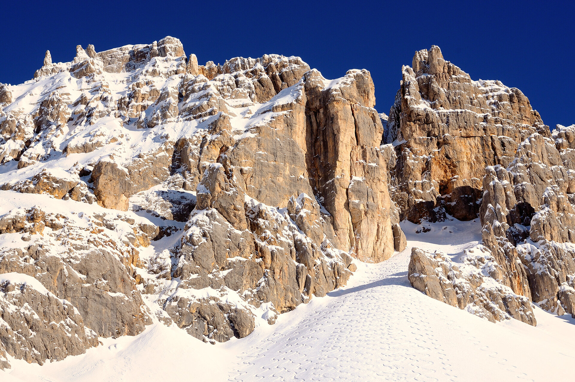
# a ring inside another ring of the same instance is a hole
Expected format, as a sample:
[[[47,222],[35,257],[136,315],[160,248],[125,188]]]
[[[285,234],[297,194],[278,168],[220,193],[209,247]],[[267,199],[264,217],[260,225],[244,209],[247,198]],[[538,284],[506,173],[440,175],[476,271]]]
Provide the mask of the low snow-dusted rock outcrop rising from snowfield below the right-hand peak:
[[[490,322],[515,318],[536,324],[528,297],[497,280],[500,266],[483,246],[465,250],[457,263],[439,251],[413,247],[408,270],[413,288],[436,300]]]

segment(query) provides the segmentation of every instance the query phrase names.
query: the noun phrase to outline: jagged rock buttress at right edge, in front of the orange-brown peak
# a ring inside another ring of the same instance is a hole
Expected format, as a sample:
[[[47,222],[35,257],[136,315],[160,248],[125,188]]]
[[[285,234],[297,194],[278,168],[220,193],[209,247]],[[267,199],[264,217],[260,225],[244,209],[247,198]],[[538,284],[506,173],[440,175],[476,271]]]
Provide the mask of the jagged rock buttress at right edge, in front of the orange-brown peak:
[[[519,145],[507,169],[488,167],[480,215],[485,245],[507,259],[503,264],[523,265],[520,272],[506,272],[528,285],[532,301],[572,316],[574,132],[571,126],[558,127],[551,138],[534,134]]]

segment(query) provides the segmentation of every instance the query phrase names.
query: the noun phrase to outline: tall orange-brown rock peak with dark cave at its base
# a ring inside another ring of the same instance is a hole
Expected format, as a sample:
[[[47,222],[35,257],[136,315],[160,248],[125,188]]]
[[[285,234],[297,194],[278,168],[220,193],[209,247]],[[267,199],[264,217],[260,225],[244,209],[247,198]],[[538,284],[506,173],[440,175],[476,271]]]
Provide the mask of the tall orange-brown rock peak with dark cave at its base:
[[[397,152],[393,200],[402,219],[477,217],[485,166],[507,167],[519,143],[549,128],[529,100],[499,81],[473,81],[435,45],[402,68],[385,142]]]

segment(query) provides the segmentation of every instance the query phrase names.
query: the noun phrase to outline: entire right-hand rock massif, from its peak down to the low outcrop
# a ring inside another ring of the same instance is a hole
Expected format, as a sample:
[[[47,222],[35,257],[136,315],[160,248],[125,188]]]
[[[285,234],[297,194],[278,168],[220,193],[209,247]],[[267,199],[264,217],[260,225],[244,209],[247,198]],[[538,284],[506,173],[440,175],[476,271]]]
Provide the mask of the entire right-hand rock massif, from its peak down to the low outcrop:
[[[471,81],[438,47],[416,52],[386,131],[392,197],[416,222],[479,215],[484,246],[458,261],[414,249],[413,287],[490,320],[535,324],[528,301],[573,315],[574,139],[551,135],[519,90]]]

